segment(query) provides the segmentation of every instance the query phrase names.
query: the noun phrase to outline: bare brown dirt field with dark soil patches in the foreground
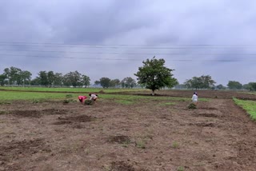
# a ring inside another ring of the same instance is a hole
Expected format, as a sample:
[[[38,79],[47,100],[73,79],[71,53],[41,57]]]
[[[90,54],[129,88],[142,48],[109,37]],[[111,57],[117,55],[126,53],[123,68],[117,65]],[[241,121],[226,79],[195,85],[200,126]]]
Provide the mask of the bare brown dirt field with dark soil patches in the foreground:
[[[256,124],[232,94],[205,96],[198,109],[161,97],[0,105],[0,170],[255,170]]]

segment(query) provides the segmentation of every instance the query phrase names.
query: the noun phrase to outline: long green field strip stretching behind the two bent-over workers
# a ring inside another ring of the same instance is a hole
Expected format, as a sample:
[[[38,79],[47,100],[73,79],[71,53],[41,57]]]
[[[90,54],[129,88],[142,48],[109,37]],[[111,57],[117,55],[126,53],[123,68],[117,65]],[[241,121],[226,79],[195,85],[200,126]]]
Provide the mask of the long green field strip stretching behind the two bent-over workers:
[[[78,99],[78,95],[86,95],[79,94],[78,92],[74,93],[53,93],[53,92],[30,92],[29,89],[27,91],[0,91],[0,102],[5,103],[17,100],[25,100],[25,101],[48,101],[48,100],[65,100],[65,99],[74,99],[75,101]],[[113,89],[115,90],[115,89]],[[126,89],[122,89],[125,91]],[[34,89],[32,89],[34,91]],[[95,92],[95,91],[94,91]],[[159,105],[175,105],[174,101],[187,101],[189,102],[190,97],[159,97],[159,96],[138,96],[132,94],[99,94],[99,100],[101,99],[110,99],[114,100],[118,104],[122,105],[133,105],[138,103],[138,101],[158,101]],[[167,101],[167,102],[166,102]],[[209,101],[207,98],[200,98],[200,101]]]

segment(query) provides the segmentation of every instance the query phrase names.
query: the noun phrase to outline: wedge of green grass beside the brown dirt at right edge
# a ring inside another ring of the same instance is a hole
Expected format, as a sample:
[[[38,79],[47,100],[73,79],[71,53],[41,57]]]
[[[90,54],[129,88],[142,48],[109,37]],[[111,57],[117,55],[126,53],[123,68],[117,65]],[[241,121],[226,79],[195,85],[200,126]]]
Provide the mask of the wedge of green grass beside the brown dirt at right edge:
[[[256,101],[245,101],[233,98],[234,103],[245,109],[247,113],[250,114],[250,118],[256,121]]]

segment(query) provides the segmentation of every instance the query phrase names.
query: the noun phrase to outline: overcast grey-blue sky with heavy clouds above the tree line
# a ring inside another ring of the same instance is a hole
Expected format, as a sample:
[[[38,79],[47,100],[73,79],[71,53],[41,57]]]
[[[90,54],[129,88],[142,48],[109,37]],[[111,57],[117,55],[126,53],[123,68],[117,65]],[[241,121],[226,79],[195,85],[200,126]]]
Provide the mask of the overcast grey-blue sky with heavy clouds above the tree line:
[[[136,78],[164,58],[174,78],[256,82],[256,1],[1,0],[0,74],[10,66]]]

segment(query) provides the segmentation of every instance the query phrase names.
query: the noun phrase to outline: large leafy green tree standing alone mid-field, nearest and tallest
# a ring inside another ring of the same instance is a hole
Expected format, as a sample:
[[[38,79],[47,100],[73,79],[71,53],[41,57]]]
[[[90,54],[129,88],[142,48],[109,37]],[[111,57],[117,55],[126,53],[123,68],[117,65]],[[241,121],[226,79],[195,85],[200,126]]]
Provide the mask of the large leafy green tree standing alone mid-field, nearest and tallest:
[[[156,89],[163,87],[173,87],[178,83],[176,78],[173,78],[171,70],[165,66],[164,59],[146,59],[143,61],[143,66],[138,68],[137,76],[138,84],[145,85],[146,89],[152,90],[152,95]]]

